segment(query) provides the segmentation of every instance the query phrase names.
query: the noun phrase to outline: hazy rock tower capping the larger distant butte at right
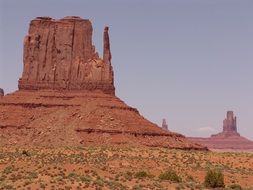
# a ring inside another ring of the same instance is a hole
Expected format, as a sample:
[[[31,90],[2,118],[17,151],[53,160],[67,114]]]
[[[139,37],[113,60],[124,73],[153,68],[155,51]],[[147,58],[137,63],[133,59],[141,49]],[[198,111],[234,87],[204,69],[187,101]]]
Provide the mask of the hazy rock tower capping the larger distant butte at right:
[[[223,131],[221,133],[212,135],[211,137],[228,137],[240,136],[237,132],[236,117],[233,111],[227,112],[227,117],[223,120]]]

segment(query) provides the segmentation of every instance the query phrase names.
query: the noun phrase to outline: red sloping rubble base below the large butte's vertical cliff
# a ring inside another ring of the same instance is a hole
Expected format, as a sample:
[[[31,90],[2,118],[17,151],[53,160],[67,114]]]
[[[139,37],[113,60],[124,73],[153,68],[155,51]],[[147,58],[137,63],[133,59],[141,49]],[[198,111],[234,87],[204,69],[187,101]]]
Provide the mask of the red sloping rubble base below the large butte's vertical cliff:
[[[0,99],[0,143],[205,147],[165,131],[119,98],[88,91],[17,91]]]

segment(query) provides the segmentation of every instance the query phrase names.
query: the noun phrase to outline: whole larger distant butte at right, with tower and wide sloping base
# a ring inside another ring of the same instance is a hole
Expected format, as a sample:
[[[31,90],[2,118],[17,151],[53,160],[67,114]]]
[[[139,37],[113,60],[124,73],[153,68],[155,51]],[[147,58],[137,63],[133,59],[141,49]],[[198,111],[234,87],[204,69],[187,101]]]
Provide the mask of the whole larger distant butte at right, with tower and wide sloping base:
[[[227,112],[222,132],[211,135],[210,138],[189,137],[189,139],[210,149],[253,151],[253,141],[240,136],[237,132],[237,118],[233,111]]]

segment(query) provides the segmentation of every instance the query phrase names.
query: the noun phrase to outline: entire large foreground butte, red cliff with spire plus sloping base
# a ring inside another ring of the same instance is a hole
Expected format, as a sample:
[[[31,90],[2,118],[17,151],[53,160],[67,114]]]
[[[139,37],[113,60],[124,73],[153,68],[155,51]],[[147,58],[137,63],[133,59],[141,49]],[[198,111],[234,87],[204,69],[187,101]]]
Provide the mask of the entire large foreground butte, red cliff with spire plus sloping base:
[[[115,96],[109,28],[102,58],[92,30],[89,20],[77,16],[31,21],[19,90],[0,99],[0,144],[207,150],[161,129]]]

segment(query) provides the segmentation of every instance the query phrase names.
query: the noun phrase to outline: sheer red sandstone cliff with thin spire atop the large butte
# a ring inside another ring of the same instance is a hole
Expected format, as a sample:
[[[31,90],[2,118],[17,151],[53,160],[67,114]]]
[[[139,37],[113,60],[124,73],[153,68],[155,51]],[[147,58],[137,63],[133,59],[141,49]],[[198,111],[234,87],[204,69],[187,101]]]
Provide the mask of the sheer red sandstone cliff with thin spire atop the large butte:
[[[114,94],[108,27],[104,57],[92,45],[92,24],[80,17],[37,17],[24,39],[19,89],[101,90]]]

